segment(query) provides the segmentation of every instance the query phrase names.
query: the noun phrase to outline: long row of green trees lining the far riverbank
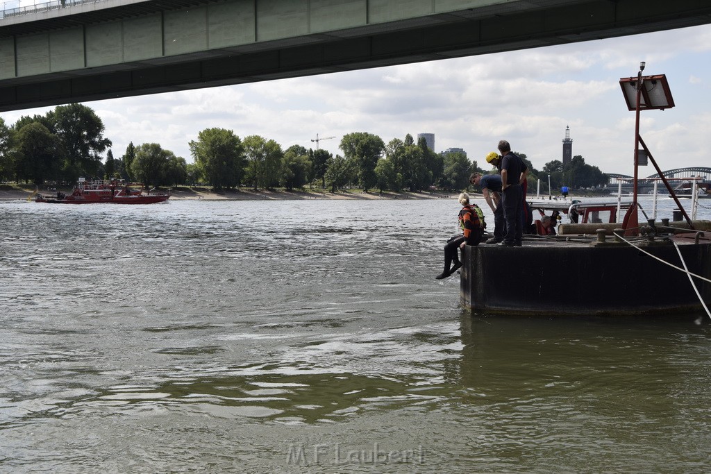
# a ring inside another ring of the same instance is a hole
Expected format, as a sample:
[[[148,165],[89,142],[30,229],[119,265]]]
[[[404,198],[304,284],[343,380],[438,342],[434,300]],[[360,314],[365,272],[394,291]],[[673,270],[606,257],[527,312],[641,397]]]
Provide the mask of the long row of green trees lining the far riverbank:
[[[188,145],[194,163],[163,149],[159,144],[134,146],[114,158],[112,141],[104,136],[104,124],[83,104],[58,106],[45,115],[21,117],[11,126],[0,117],[0,179],[43,185],[47,182],[74,183],[80,176],[122,178],[150,187],[210,185],[215,190],[286,188],[306,185],[328,188],[331,192],[353,187],[368,190],[423,191],[461,190],[469,176],[484,172],[466,154],[434,153],[424,139],[412,135],[392,139],[387,144],[368,132],[353,132],[341,139],[341,154],[293,145],[286,150],[273,139],[258,135],[240,139],[234,131],[210,128],[201,131]],[[105,157],[103,154],[106,153]],[[525,159],[525,154],[520,153]],[[546,163],[539,172],[526,160],[530,180],[541,174],[551,176],[551,184],[570,187],[606,183],[606,176],[575,156],[570,168],[560,161]],[[491,171],[489,171],[491,172]]]

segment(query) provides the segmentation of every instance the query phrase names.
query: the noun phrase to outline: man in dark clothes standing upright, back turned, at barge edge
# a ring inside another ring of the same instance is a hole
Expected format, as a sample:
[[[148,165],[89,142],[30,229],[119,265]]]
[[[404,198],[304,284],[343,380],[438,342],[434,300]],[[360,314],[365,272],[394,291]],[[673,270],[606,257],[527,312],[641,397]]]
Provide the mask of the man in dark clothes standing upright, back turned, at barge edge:
[[[523,238],[523,222],[520,215],[520,205],[523,200],[521,183],[528,175],[528,166],[511,151],[508,141],[499,141],[498,151],[503,156],[501,158],[501,202],[503,218],[506,222],[506,233],[503,235],[503,241],[498,242],[498,245],[520,247]]]

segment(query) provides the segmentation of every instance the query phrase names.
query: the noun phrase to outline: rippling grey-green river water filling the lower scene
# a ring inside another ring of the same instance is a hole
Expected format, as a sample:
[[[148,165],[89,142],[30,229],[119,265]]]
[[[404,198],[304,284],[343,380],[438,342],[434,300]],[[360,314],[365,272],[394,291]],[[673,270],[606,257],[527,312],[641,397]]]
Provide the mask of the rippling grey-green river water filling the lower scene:
[[[711,324],[472,316],[458,209],[1,202],[0,472],[707,472]]]

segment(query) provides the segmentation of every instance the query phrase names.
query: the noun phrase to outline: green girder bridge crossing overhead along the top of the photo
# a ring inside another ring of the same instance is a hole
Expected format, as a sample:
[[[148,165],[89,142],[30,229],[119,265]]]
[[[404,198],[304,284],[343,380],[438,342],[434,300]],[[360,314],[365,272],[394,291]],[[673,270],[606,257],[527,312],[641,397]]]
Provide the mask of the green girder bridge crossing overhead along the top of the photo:
[[[0,19],[0,111],[703,23],[705,0],[103,0]]]

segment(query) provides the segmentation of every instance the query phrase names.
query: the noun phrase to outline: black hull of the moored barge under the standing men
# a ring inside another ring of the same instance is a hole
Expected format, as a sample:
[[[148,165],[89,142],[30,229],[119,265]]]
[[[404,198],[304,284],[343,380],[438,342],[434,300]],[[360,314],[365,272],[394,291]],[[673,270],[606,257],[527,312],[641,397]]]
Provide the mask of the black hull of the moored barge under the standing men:
[[[689,271],[711,278],[711,244],[680,244]],[[683,268],[672,244],[644,248]],[[711,284],[694,279],[707,303]],[[703,311],[688,276],[626,244],[467,246],[461,303],[483,315],[643,316]]]

